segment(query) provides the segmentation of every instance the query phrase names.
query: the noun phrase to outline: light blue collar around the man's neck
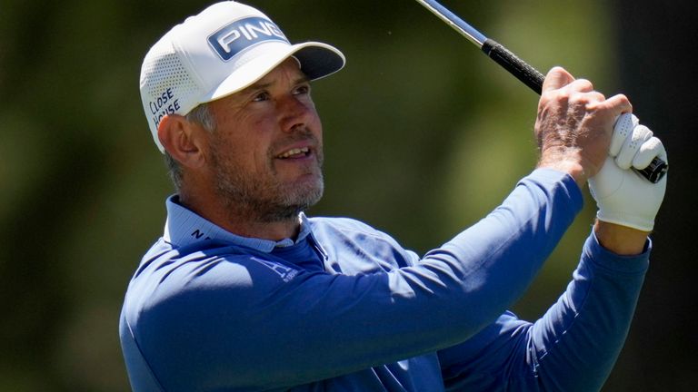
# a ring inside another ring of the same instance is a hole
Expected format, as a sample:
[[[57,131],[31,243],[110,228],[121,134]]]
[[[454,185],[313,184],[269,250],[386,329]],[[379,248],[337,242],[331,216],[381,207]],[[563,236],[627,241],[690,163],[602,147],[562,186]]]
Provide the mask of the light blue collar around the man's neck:
[[[301,222],[301,231],[296,240],[263,240],[249,237],[242,237],[224,230],[209,220],[197,215],[193,211],[178,203],[177,195],[170,196],[165,202],[167,207],[167,220],[165,221],[165,233],[163,239],[172,243],[176,247],[194,244],[204,240],[219,240],[234,245],[242,245],[254,250],[261,250],[266,253],[277,247],[288,247],[301,242],[310,234],[310,224],[303,212],[298,216]]]

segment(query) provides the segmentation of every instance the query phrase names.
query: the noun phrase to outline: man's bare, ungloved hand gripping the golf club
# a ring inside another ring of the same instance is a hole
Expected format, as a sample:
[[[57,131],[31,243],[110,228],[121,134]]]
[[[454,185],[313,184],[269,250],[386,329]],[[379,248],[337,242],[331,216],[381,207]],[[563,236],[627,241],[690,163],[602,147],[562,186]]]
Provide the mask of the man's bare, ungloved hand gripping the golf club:
[[[613,122],[633,107],[622,95],[606,99],[589,81],[574,80],[561,67],[545,76],[535,135],[541,149],[538,167],[565,171],[580,186],[593,177],[608,155]]]

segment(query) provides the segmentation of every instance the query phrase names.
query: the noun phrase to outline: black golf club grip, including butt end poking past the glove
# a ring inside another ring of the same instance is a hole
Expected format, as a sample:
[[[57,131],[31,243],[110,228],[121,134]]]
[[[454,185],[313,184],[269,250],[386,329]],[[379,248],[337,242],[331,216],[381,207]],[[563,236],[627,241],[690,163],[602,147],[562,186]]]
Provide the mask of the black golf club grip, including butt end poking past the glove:
[[[531,88],[535,93],[540,95],[543,92],[543,80],[545,76],[538,72],[531,65],[526,64],[522,59],[513,54],[503,44],[499,44],[493,39],[487,38],[483,43],[483,52],[488,57],[500,64],[509,73]],[[657,183],[662,180],[666,171],[669,170],[669,164],[664,162],[659,157],[654,157],[652,163],[643,170],[633,168],[633,171],[640,174],[647,181]]]

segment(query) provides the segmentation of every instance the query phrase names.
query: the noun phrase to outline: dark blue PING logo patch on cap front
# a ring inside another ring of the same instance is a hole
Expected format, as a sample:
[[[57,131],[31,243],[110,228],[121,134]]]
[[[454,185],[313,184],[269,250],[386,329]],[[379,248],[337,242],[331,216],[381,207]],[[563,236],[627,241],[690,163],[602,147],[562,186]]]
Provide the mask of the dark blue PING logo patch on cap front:
[[[290,44],[277,25],[258,16],[234,21],[208,37],[208,44],[223,61],[228,61],[244,49],[264,41]]]

